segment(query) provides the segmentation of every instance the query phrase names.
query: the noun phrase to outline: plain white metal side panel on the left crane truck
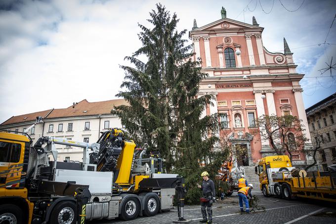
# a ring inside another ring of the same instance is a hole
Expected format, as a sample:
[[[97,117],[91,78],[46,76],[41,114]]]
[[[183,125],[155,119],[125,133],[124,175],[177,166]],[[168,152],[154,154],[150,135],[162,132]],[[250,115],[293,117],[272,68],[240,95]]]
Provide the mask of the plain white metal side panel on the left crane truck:
[[[112,191],[113,172],[92,172],[78,170],[56,170],[55,181],[76,181],[77,184],[89,185],[91,194],[110,193]]]

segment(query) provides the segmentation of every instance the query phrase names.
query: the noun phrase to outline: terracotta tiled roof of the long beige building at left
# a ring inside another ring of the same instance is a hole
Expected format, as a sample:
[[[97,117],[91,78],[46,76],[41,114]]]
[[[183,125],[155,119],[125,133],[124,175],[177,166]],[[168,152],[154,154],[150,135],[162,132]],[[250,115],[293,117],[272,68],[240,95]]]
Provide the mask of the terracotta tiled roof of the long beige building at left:
[[[110,114],[114,106],[119,106],[128,103],[125,99],[112,99],[100,102],[88,102],[86,99],[82,100],[74,107],[70,106],[63,109],[49,109],[45,111],[35,112],[31,114],[24,114],[19,116],[13,116],[7,121],[3,122],[0,126],[17,124],[27,121],[35,121],[37,116],[42,116],[44,119],[50,118],[63,118],[63,117],[78,117],[78,116],[90,116],[90,115],[103,115]],[[51,113],[48,115],[48,113]],[[84,113],[84,111],[86,111]],[[47,116],[48,115],[48,116]],[[27,117],[26,119],[24,119]]]

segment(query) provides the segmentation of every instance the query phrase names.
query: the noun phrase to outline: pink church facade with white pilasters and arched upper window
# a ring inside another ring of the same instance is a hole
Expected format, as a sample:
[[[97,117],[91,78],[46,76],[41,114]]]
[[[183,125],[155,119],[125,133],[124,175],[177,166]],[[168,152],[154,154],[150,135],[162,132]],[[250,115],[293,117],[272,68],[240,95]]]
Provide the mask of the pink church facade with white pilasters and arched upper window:
[[[213,106],[204,115],[221,113],[222,134],[229,134],[234,145],[246,149],[244,166],[274,155],[268,141],[256,140],[255,120],[266,115],[291,114],[302,120],[308,130],[299,81],[304,74],[296,66],[286,40],[284,53],[269,52],[262,44],[262,31],[253,17],[252,25],[226,18],[202,27],[194,27],[189,37],[194,44],[195,60],[202,60],[202,72],[208,73],[199,95],[215,95]],[[310,139],[309,131],[304,131]],[[254,133],[254,134],[252,134]],[[258,134],[256,134],[258,135]],[[311,147],[293,154],[295,165],[310,164]]]

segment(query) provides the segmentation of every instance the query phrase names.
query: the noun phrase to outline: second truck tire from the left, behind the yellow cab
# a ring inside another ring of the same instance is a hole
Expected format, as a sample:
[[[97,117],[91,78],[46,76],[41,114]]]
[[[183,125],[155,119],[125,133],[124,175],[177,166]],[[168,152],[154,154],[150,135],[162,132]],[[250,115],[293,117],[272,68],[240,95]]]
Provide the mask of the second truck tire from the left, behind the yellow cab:
[[[52,210],[50,224],[76,224],[77,206],[73,201],[61,201]]]

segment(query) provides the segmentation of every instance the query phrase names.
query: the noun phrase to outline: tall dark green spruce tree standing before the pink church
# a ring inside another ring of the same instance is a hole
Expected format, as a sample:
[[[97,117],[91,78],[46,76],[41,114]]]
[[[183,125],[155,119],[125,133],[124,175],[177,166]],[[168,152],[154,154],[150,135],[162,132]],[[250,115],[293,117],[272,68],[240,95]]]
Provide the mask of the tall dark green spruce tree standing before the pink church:
[[[216,114],[201,118],[213,96],[197,96],[206,74],[201,73],[201,62],[191,59],[192,45],[183,39],[187,30],[178,32],[176,14],[171,16],[161,4],[156,7],[149,13],[150,28],[139,24],[142,47],[125,57],[132,66],[121,66],[126,73],[121,87],[126,90],[117,96],[128,105],[117,106],[112,113],[121,118],[129,137],[161,153],[167,172],[173,169],[192,186],[207,168],[213,177],[223,161],[221,153],[213,152],[218,118]],[[139,60],[140,55],[146,62]],[[202,168],[203,162],[208,166]],[[190,201],[195,201],[200,192],[190,189]]]

